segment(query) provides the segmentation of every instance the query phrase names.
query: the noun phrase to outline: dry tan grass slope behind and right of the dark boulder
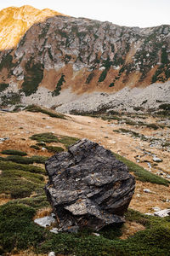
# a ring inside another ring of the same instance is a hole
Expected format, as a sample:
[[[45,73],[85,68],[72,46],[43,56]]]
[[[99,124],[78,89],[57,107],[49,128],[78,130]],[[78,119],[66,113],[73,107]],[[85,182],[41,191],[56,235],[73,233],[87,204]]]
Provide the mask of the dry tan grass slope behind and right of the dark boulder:
[[[153,117],[143,119],[143,122],[147,124],[163,124],[162,128],[153,130],[143,125],[127,125],[126,118],[121,117],[119,121],[117,119],[103,120],[69,114],[66,115],[66,119],[54,119],[43,113],[1,112],[0,134],[1,138],[7,139],[4,141],[1,139],[0,151],[13,148],[26,151],[30,156],[37,154],[36,149],[30,148],[32,141],[29,137],[42,132],[79,138],[87,137],[128,160],[137,162],[146,170],[170,180],[170,127],[165,125],[167,120]],[[133,118],[133,121],[137,122],[139,118]],[[143,137],[135,137],[132,131]],[[59,143],[56,145],[59,146]],[[52,155],[44,149],[38,150],[38,154]],[[150,189],[150,192],[146,193],[144,189]],[[6,201],[8,199],[2,198],[1,204]],[[164,209],[169,207],[169,203],[168,187],[137,181],[130,207],[140,212],[154,212],[154,207]]]

